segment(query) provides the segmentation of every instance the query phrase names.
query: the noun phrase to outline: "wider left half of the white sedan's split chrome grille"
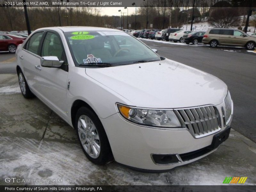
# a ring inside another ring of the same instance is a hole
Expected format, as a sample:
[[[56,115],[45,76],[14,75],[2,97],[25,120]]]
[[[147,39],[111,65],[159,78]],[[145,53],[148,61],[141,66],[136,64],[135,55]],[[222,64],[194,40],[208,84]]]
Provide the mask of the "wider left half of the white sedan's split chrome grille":
[[[218,132],[221,127],[218,109],[212,105],[174,110],[183,127],[196,138]]]

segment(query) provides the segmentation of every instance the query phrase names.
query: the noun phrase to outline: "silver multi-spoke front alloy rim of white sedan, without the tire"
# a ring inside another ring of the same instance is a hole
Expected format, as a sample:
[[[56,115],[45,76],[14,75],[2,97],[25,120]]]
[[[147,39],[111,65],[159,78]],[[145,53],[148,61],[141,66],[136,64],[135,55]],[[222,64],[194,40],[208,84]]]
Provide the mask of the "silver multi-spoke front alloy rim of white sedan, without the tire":
[[[85,152],[96,159],[100,155],[100,137],[90,117],[81,115],[78,119],[79,139]]]

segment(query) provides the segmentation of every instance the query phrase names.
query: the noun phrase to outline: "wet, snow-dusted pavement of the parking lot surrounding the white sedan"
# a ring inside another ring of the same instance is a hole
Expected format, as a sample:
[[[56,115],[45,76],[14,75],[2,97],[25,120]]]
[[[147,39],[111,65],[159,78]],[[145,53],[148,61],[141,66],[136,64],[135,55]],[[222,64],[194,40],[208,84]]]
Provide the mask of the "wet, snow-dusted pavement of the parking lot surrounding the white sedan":
[[[0,53],[0,185],[6,177],[62,179],[56,184],[64,185],[221,185],[229,176],[248,177],[243,185],[256,184],[256,54],[237,47],[141,41],[228,85],[234,101],[229,139],[211,155],[165,173],[136,172],[115,162],[94,165],[70,126],[37,98],[23,98],[17,75],[9,74],[15,73],[14,55]]]

